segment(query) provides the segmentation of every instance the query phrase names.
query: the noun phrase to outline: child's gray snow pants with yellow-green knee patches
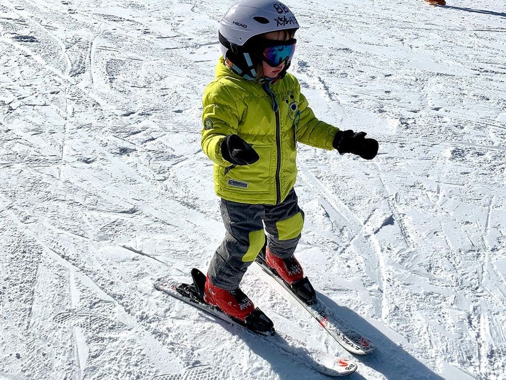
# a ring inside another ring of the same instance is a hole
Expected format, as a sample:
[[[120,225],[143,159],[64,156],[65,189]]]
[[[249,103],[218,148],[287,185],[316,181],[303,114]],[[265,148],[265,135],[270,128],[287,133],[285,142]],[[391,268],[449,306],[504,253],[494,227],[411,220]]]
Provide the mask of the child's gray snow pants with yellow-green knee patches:
[[[265,232],[274,255],[292,256],[304,224],[304,212],[297,201],[293,189],[278,205],[251,205],[222,199],[221,213],[227,231],[207,270],[211,282],[222,289],[236,289],[264,246]]]

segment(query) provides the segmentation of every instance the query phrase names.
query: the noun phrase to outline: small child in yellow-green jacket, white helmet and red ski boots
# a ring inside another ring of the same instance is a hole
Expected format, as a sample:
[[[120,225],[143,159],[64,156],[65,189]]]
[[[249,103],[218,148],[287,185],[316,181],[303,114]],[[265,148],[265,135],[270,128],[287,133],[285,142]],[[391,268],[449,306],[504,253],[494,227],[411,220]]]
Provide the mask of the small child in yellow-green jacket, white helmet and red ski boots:
[[[207,271],[204,300],[241,321],[255,307],[239,283],[266,239],[267,264],[292,287],[308,282],[293,256],[304,223],[293,189],[297,142],[367,160],[378,150],[365,132],[341,131],[315,117],[299,82],[286,72],[298,28],[278,1],[232,6],[219,26],[223,57],[203,95],[201,145],[214,162],[226,227]]]

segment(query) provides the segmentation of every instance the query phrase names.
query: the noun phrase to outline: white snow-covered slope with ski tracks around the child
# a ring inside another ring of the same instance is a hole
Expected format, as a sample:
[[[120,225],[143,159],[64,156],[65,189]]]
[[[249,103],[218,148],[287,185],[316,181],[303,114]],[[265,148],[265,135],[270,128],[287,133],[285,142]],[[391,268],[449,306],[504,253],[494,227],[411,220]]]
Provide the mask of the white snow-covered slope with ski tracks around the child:
[[[152,285],[224,234],[200,112],[233,3],[0,2],[0,378],[322,378]],[[378,346],[349,378],[504,379],[506,2],[332,3],[286,2],[290,70],[380,151],[300,145],[297,256]],[[279,331],[353,359],[264,280]]]

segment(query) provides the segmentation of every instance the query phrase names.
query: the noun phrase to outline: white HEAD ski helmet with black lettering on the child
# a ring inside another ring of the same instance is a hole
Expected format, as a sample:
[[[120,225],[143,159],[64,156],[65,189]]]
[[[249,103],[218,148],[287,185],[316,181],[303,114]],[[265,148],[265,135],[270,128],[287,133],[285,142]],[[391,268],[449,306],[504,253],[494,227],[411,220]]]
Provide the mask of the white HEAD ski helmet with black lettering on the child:
[[[235,67],[231,68],[234,71],[247,79],[254,79],[259,59],[250,54],[252,47],[247,42],[264,33],[298,28],[297,18],[283,3],[274,0],[242,0],[233,5],[220,21],[221,52],[226,60],[233,63]]]

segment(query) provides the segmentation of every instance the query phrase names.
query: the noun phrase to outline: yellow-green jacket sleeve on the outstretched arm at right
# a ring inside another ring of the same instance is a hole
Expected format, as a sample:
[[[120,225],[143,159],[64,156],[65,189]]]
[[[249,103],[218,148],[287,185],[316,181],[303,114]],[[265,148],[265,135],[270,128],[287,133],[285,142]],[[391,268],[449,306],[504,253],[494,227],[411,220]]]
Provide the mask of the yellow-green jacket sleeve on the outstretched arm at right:
[[[332,140],[338,128],[318,120],[309,107],[308,100],[301,93],[299,98],[300,120],[297,128],[297,141],[317,148],[332,150]]]

